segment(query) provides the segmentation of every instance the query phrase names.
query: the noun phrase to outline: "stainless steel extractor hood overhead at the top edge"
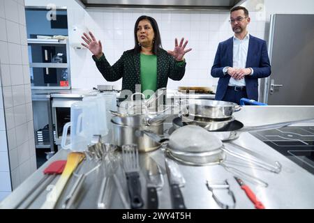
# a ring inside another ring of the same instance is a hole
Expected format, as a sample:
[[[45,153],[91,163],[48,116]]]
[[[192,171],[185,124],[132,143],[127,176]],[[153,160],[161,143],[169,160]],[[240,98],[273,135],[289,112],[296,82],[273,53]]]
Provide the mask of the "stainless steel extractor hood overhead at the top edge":
[[[246,0],[75,0],[84,8],[173,8],[230,10]]]

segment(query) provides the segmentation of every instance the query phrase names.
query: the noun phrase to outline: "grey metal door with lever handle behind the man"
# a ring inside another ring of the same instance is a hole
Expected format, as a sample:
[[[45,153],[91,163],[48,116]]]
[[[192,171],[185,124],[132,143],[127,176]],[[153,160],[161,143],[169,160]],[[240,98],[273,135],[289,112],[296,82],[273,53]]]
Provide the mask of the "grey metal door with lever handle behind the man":
[[[271,15],[268,105],[314,105],[314,15]]]

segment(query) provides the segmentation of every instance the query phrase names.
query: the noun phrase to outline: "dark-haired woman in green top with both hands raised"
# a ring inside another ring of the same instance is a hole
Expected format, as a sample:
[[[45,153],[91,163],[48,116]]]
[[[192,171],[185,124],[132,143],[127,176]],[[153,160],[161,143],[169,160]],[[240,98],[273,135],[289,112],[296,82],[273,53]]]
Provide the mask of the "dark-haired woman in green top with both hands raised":
[[[167,87],[168,77],[177,81],[184,77],[184,54],[191,50],[185,49],[188,40],[184,43],[182,38],[178,43],[176,38],[174,50],[166,52],[162,49],[156,20],[146,15],[140,16],[135,22],[134,37],[134,49],[124,52],[113,66],[108,63],[100,40],[96,40],[93,33],[84,33],[82,39],[85,43],[82,45],[91,51],[98,70],[108,82],[123,78],[122,91],[135,93],[136,90],[148,96],[157,89]],[[135,89],[136,85],[140,89]]]

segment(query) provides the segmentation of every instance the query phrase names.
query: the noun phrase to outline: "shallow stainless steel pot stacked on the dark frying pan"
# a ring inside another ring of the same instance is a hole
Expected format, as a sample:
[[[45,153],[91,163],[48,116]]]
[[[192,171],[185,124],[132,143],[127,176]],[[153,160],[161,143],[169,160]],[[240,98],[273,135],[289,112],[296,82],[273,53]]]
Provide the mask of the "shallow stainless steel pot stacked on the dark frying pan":
[[[241,109],[235,103],[220,100],[190,99],[183,100],[181,104],[184,105],[181,112],[186,116],[193,115],[216,120],[231,118],[233,112],[238,112]]]

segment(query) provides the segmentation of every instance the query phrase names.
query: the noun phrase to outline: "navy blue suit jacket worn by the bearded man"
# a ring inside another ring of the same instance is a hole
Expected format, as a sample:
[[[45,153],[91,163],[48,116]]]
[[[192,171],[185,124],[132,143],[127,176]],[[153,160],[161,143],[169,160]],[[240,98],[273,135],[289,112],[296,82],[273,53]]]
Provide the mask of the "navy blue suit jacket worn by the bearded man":
[[[233,37],[218,45],[214,65],[211,68],[211,76],[219,77],[215,100],[222,100],[230,75],[224,75],[223,68],[232,67],[233,64]],[[246,93],[249,99],[258,100],[257,78],[268,77],[271,74],[271,66],[267,53],[266,42],[250,35],[248,42],[248,57],[246,68],[253,68],[253,75],[246,75]]]

